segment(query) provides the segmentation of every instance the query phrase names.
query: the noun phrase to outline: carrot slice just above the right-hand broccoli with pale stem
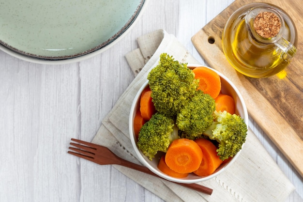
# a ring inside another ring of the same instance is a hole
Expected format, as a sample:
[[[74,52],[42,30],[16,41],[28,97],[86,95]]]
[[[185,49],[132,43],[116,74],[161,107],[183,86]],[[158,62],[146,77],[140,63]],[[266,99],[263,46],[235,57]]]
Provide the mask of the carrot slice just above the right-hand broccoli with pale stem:
[[[215,99],[214,99],[215,105],[216,105],[216,111],[224,111],[234,114],[236,107],[235,107],[235,100],[227,95],[220,93]]]

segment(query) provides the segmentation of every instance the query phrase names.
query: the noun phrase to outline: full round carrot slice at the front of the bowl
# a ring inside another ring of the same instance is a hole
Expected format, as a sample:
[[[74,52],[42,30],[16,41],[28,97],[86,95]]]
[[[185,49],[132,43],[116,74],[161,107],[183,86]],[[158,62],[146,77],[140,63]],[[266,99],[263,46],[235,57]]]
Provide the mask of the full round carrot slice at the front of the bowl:
[[[190,173],[199,168],[202,157],[202,150],[194,140],[182,138],[170,143],[165,162],[173,171]]]

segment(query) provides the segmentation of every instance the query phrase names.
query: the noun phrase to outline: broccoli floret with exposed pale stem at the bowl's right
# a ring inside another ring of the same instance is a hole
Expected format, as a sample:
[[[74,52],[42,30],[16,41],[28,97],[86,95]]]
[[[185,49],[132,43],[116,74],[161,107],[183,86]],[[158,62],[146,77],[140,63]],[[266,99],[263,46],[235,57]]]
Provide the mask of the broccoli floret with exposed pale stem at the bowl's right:
[[[219,143],[217,153],[221,160],[225,160],[242,149],[246,140],[247,125],[239,115],[227,111],[214,111],[213,114],[214,122],[203,135]]]

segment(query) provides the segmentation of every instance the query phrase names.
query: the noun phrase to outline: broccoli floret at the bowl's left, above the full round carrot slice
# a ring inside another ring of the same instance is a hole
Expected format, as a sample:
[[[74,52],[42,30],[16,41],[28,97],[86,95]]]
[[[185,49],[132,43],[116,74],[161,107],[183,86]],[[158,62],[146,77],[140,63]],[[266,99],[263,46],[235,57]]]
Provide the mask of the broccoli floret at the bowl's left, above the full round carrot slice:
[[[156,112],[142,126],[137,145],[143,154],[152,160],[158,151],[167,152],[169,144],[178,138],[178,128],[174,120]]]

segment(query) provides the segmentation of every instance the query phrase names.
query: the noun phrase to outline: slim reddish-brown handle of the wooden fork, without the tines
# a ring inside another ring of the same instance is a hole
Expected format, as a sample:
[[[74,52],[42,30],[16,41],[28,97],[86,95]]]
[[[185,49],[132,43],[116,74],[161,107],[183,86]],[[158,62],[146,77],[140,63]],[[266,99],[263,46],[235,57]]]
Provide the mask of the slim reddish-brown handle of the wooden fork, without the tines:
[[[120,158],[120,157],[119,157]],[[152,176],[155,176],[155,177],[159,177],[161,179],[164,179],[162,177],[160,177],[159,175],[153,173],[151,170],[149,170],[147,167],[145,166],[141,166],[141,165],[138,165],[136,163],[133,163],[133,162],[130,162],[130,161],[127,161],[123,158],[120,158],[121,162],[119,165],[121,166],[124,166],[124,167],[128,167],[128,168],[131,168],[131,169],[134,169],[136,171],[141,171],[141,172],[144,172],[144,173],[147,173],[147,174],[150,174]],[[165,179],[166,180],[166,179]],[[167,180],[168,181],[168,180]],[[169,181],[171,182],[171,181]],[[175,184],[178,184],[178,185],[181,185],[181,186],[185,186],[187,188],[191,188],[191,189],[194,189],[196,191],[199,191],[199,192],[202,192],[202,193],[205,193],[205,194],[208,194],[208,195],[212,195],[212,189],[209,188],[209,187],[206,187],[206,186],[202,186],[202,185],[198,185],[196,183],[193,183],[193,184],[185,184],[185,183],[178,183],[178,182],[173,182]]]

